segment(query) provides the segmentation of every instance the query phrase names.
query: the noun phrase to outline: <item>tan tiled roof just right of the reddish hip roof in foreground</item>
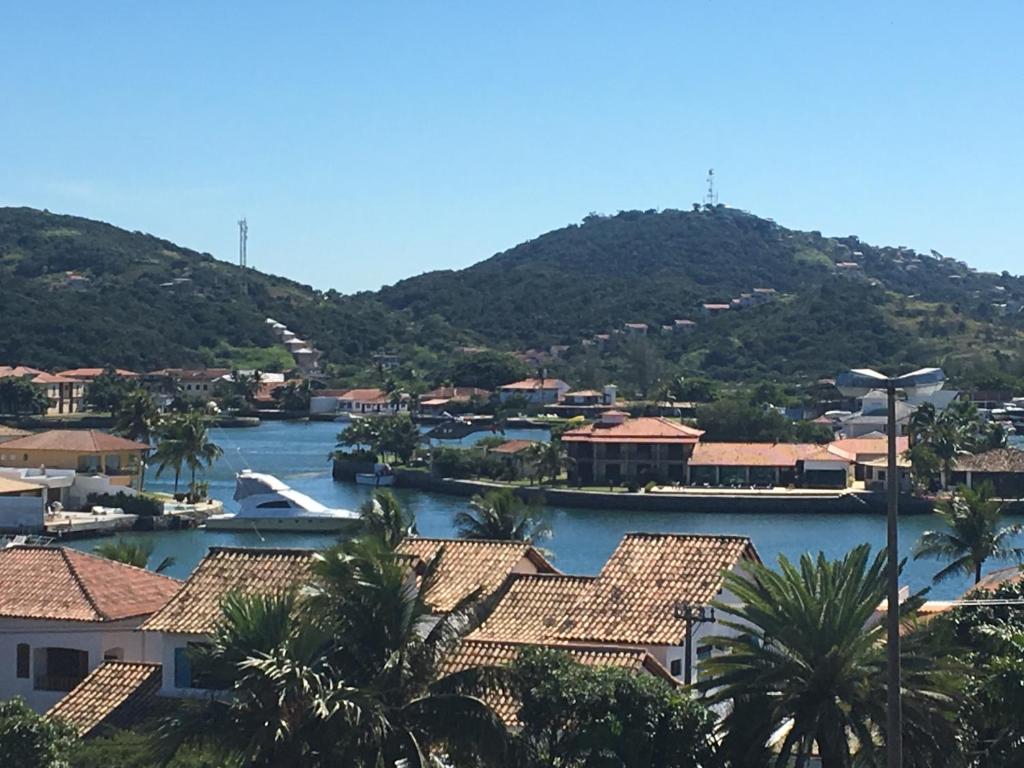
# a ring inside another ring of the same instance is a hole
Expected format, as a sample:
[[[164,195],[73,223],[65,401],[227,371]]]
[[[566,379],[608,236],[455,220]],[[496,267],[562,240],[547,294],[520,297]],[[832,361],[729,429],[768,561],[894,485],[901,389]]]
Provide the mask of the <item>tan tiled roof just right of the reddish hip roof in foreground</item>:
[[[139,629],[208,635],[229,592],[284,593],[309,577],[314,554],[305,549],[211,547],[177,594]]]

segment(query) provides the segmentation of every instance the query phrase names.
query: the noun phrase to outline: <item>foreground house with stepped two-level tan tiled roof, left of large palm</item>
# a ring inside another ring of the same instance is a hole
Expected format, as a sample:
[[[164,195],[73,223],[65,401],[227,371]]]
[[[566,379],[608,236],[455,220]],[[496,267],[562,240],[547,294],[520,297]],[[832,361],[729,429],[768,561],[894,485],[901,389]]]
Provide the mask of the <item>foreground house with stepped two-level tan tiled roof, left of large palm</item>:
[[[759,561],[743,537],[628,534],[597,577],[513,577],[467,640],[642,649],[682,679],[687,651],[695,669],[711,653],[703,638],[721,630],[692,617],[735,602],[722,573]]]

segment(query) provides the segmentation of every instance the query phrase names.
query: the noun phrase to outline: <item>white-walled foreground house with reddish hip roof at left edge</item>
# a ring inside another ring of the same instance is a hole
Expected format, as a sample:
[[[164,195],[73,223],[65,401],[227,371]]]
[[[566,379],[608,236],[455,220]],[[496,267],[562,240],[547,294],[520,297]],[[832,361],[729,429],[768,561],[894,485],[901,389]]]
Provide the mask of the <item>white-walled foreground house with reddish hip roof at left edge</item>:
[[[65,547],[0,550],[0,698],[46,712],[104,659],[141,660],[141,622],[179,583]]]

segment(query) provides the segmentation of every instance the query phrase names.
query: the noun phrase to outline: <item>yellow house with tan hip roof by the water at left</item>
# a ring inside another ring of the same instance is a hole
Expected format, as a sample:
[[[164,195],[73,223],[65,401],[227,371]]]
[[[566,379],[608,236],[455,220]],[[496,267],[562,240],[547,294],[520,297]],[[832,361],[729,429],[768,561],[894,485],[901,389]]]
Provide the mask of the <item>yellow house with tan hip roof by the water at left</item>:
[[[135,485],[150,446],[95,429],[51,429],[0,443],[0,466],[73,469]]]

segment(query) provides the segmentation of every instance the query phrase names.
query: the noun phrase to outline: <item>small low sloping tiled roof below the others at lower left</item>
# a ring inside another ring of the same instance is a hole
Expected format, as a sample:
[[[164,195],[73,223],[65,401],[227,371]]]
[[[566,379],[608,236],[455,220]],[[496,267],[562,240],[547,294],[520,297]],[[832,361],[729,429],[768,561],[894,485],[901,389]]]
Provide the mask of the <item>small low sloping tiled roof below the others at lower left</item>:
[[[159,664],[103,662],[46,717],[69,723],[84,738],[112,716],[141,703],[160,690],[163,676]]]

